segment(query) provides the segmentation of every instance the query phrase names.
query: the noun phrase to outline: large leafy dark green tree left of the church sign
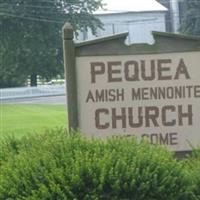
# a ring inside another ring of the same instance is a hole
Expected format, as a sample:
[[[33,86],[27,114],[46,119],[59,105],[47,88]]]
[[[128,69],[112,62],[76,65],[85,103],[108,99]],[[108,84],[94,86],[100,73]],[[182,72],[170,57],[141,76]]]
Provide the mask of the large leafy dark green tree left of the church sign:
[[[21,85],[28,76],[31,86],[35,86],[37,75],[51,79],[63,74],[63,24],[70,22],[76,32],[91,28],[95,33],[102,24],[92,13],[101,6],[101,1],[3,0],[0,79],[4,81],[0,81],[0,87]]]

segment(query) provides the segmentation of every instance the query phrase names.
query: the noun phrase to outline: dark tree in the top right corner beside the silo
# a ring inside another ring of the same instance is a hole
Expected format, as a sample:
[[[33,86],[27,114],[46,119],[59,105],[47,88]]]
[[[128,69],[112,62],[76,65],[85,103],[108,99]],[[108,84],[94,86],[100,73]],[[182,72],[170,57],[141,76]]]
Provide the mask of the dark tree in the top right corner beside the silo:
[[[185,0],[185,12],[180,32],[187,35],[200,36],[200,1]]]

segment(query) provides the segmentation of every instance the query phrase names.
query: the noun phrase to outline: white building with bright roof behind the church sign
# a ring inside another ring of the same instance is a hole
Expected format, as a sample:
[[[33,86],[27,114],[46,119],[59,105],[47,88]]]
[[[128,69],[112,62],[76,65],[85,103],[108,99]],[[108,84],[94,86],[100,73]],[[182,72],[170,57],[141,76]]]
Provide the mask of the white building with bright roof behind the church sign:
[[[127,43],[153,43],[151,31],[166,31],[167,9],[155,0],[104,0],[104,10],[95,16],[104,24],[97,36],[91,31],[80,33],[79,40],[94,39],[121,32],[129,32]]]

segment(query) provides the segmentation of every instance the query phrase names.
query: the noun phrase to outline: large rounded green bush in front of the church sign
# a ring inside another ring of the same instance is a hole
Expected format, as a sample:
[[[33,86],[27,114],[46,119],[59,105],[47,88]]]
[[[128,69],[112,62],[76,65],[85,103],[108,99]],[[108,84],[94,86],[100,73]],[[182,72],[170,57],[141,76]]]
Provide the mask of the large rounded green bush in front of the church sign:
[[[9,138],[1,149],[2,200],[196,198],[187,167],[167,150],[145,142],[89,140],[54,131]]]

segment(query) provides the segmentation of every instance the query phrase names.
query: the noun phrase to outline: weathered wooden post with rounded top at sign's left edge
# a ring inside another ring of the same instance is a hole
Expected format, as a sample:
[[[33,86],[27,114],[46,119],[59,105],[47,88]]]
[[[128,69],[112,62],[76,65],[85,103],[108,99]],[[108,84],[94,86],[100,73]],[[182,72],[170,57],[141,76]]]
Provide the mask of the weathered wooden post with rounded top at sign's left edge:
[[[66,23],[63,32],[63,55],[66,80],[66,97],[68,110],[69,131],[78,129],[77,86],[75,67],[75,45],[73,42],[73,28]]]

